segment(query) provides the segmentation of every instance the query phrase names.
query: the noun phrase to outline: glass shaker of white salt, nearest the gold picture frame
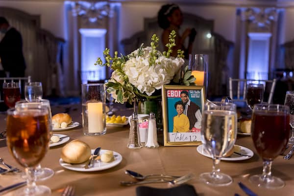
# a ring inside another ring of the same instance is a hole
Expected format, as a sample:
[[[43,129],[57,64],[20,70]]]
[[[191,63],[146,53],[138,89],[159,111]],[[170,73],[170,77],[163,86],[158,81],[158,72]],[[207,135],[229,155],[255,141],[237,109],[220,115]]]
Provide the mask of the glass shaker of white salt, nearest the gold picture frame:
[[[156,119],[155,119],[155,114],[153,112],[149,114],[148,131],[147,131],[147,139],[146,139],[145,146],[147,148],[159,147],[157,142]]]

